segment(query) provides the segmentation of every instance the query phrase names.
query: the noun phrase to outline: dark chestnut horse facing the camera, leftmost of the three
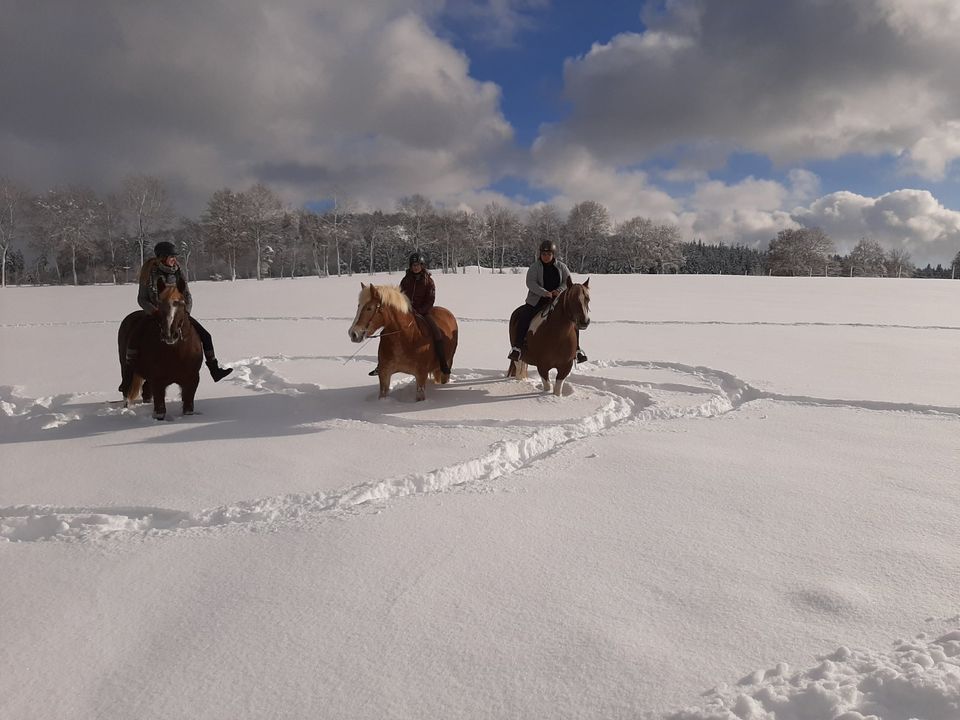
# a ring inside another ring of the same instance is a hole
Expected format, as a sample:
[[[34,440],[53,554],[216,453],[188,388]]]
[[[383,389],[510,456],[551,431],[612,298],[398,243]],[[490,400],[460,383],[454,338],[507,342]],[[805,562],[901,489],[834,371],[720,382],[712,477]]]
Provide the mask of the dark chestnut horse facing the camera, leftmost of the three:
[[[120,323],[117,345],[120,349],[120,364],[123,364],[127,345],[136,330],[133,341],[138,347],[133,361],[133,383],[124,398],[124,407],[129,407],[143,388],[144,402],[153,394],[153,417],[163,420],[167,415],[167,386],[180,386],[183,398],[183,414],[193,414],[193,398],[200,384],[200,363],[203,349],[200,336],[193,329],[187,314],[183,295],[176,286],[160,285],[160,305],[156,316],[137,310],[127,315]],[[137,328],[138,324],[142,326]],[[146,384],[145,382],[146,381]]]

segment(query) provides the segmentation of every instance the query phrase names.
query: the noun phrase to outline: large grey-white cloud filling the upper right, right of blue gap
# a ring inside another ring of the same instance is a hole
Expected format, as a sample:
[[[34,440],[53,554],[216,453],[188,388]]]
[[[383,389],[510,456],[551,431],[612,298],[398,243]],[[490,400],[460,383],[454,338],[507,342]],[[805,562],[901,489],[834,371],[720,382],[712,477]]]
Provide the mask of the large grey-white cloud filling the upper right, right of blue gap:
[[[545,136],[626,166],[704,148],[709,167],[721,147],[780,164],[904,154],[941,178],[960,156],[957,7],[672,0],[645,12],[646,32],[567,61],[572,111]]]

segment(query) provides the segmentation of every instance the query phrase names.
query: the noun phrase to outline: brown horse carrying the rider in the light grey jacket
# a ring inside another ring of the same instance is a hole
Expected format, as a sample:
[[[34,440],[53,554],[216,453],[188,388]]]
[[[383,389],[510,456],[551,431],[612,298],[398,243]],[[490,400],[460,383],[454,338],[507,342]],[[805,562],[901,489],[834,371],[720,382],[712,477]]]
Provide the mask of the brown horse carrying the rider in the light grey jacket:
[[[526,345],[520,360],[510,361],[507,377],[516,376],[518,380],[527,377],[527,365],[536,365],[543,379],[543,391],[550,392],[551,369],[557,371],[557,381],[553,394],[560,396],[563,381],[573,368],[577,356],[577,331],[590,324],[590,279],[578,285],[567,278],[567,288],[554,302],[553,310],[535,330],[527,334]],[[510,336],[517,324],[517,308],[510,316]],[[537,318],[534,318],[536,323]],[[533,323],[531,324],[533,325]],[[523,340],[521,339],[522,343]]]

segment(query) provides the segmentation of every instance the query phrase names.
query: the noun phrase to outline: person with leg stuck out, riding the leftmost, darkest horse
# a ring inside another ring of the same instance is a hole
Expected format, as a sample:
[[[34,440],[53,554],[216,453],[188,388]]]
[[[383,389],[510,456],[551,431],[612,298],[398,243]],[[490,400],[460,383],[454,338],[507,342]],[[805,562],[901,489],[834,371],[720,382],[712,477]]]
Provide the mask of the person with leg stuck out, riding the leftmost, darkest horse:
[[[164,285],[175,285],[180,289],[183,299],[187,304],[187,315],[190,317],[190,324],[200,336],[200,344],[203,345],[203,355],[207,359],[207,368],[210,370],[210,377],[214,382],[220,382],[227,375],[233,372],[233,368],[222,368],[217,362],[216,353],[213,350],[213,338],[210,333],[197,322],[197,319],[190,315],[193,308],[193,297],[190,295],[190,288],[187,287],[187,279],[180,270],[177,263],[177,249],[173,243],[158,242],[153,248],[153,254],[156,257],[148,259],[143,267],[140,268],[140,290],[137,293],[137,303],[143,308],[146,315],[153,315],[157,312],[160,305],[160,293],[158,282],[163,281]],[[122,382],[120,383],[120,392],[126,394],[133,382],[133,365],[137,354],[140,351],[140,334],[143,328],[141,321],[133,330],[130,340],[127,344],[127,352],[123,363]]]

